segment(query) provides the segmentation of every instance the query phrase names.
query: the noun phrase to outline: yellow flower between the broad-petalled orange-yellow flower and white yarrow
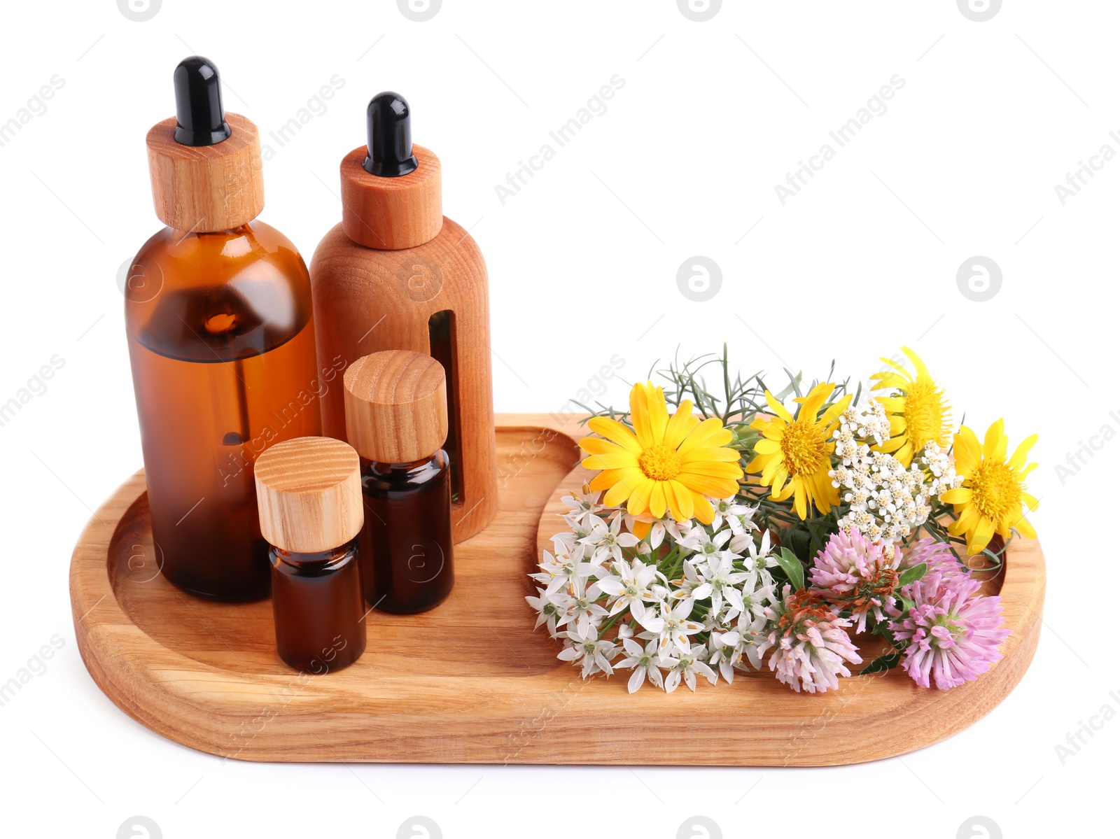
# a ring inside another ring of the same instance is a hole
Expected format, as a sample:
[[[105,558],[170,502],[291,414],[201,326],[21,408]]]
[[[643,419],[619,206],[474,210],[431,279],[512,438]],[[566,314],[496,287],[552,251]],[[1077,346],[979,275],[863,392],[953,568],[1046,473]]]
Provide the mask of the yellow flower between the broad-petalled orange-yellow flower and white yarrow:
[[[750,423],[763,438],[755,444],[755,459],[747,465],[747,472],[762,473],[759,483],[771,487],[775,501],[793,495],[794,510],[802,519],[809,518],[810,504],[827,513],[840,503],[840,493],[829,477],[836,448],[831,438],[851,394],[818,417],[834,389],[832,383],[818,384],[808,397],[795,399],[801,404],[796,419],[766,391],[766,403],[775,417],[758,417]]]

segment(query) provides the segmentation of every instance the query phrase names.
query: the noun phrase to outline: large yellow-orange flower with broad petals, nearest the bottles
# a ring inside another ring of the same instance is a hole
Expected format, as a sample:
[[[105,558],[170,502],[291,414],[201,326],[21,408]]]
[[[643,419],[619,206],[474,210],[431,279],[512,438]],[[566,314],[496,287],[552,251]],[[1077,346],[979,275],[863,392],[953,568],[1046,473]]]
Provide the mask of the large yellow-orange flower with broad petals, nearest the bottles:
[[[727,448],[734,435],[716,419],[702,422],[692,414],[692,402],[682,400],[669,416],[665,393],[652,382],[631,390],[634,430],[607,417],[594,417],[588,428],[601,437],[585,437],[584,467],[601,469],[591,491],[606,490],[604,504],[634,515],[662,519],[668,510],[679,522],[696,516],[711,524],[716,511],[704,496],[726,498],[739,490],[739,453]],[[603,439],[606,438],[606,439]]]

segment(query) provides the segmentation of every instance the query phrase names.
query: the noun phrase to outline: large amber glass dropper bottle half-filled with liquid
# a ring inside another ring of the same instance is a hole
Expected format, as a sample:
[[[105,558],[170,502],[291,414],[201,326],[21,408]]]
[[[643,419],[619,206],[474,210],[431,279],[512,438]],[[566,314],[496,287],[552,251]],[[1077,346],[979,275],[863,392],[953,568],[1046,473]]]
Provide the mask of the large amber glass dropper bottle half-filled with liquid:
[[[221,109],[217,72],[175,73],[177,116],[148,133],[156,212],[124,317],[164,575],[193,594],[267,597],[253,463],[320,429],[310,280],[263,207],[256,128]]]

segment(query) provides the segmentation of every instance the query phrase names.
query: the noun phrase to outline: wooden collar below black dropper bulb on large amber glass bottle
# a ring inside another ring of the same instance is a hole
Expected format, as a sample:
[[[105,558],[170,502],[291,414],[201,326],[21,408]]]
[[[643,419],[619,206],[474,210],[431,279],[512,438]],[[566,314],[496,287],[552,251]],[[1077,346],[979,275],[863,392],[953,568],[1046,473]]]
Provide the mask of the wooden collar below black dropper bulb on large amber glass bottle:
[[[264,209],[256,125],[226,113],[230,138],[214,146],[180,146],[170,116],[148,132],[148,168],[156,215],[164,224],[213,233],[248,224]]]

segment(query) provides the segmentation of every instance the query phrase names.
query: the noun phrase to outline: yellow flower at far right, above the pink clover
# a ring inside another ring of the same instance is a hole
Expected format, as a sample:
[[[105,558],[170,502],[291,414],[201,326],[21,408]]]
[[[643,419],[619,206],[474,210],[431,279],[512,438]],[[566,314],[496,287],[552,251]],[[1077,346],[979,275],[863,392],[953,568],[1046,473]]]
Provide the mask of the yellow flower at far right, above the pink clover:
[[[979,553],[999,533],[1005,539],[1015,528],[1028,539],[1035,529],[1023,514],[1023,505],[1037,510],[1038,500],[1026,491],[1026,477],[1038,464],[1027,464],[1027,453],[1038,435],[1019,444],[1015,454],[1007,457],[1007,435],[1004,420],[991,423],[983,438],[983,448],[976,432],[962,426],[953,439],[956,474],[964,478],[958,490],[941,494],[941,500],[952,504],[960,515],[949,532],[967,534],[969,553]]]

